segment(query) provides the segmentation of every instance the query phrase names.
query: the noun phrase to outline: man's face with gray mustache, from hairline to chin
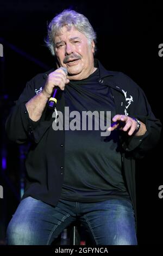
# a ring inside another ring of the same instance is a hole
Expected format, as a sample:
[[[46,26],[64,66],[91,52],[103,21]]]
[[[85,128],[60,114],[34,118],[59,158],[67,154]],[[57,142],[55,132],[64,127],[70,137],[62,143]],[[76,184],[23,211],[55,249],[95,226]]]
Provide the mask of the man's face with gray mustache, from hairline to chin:
[[[88,43],[84,34],[72,27],[67,31],[67,26],[61,28],[55,36],[55,54],[58,59],[58,68],[63,66],[68,71],[70,80],[82,80],[94,71],[93,52],[95,44]]]

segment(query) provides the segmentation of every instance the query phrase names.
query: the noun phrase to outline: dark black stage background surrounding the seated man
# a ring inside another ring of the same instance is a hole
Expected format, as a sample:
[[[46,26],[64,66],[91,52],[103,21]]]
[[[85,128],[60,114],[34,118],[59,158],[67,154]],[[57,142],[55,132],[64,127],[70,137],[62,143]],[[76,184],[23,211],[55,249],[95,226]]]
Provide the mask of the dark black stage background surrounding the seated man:
[[[45,46],[47,22],[62,10],[71,8],[84,14],[97,32],[96,57],[106,69],[122,71],[145,91],[154,114],[162,121],[162,39],[161,1],[4,1],[0,2],[0,57],[2,170],[0,185],[0,243],[20,200],[26,147],[12,144],[4,132],[4,122],[14,100],[26,82],[51,69],[54,58]],[[137,214],[140,245],[162,243],[162,203],[158,187],[163,185],[162,138],[145,159],[137,162]],[[4,168],[4,161],[7,166]]]

